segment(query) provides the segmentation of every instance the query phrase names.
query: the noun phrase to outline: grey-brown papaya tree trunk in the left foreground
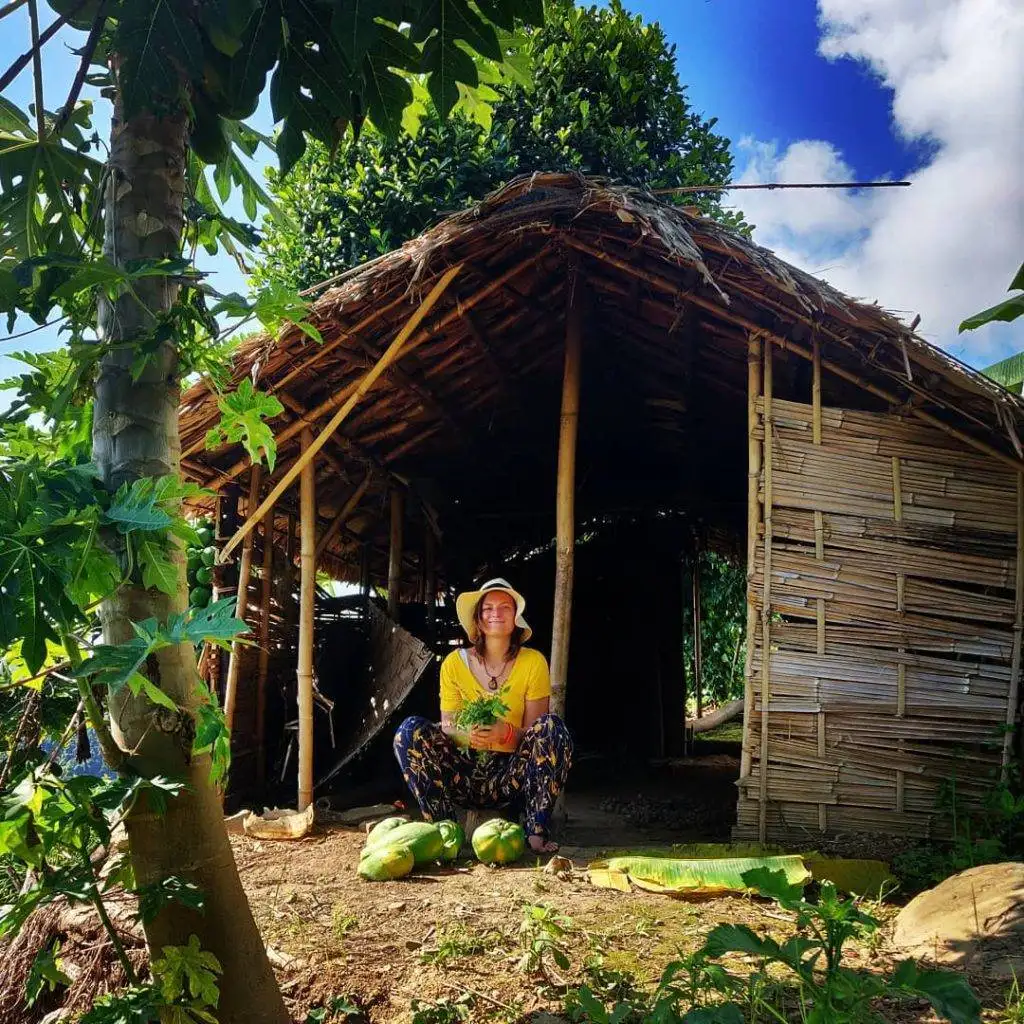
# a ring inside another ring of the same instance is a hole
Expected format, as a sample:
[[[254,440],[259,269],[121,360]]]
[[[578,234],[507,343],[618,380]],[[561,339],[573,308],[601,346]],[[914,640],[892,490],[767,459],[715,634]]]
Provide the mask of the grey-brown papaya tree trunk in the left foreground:
[[[104,198],[104,255],[119,265],[137,258],[180,253],[187,145],[183,115],[148,114],[125,120],[115,110],[110,177]],[[167,278],[137,283],[134,295],[103,303],[100,335],[113,343],[103,356],[95,386],[93,458],[104,486],[116,490],[140,476],[179,472],[178,357],[173,340],[152,353],[133,377],[141,341],[152,337],[157,317],[172,306],[177,285]],[[136,365],[137,370],[137,365]],[[100,609],[103,638],[120,643],[132,636],[131,621],[186,605],[183,559],[177,556],[178,588],[173,599],[142,587],[125,586]],[[170,903],[145,925],[151,954],[165,945],[184,945],[196,935],[223,968],[221,1024],[284,1024],[289,1020],[224,829],[220,802],[209,780],[210,763],[191,757],[195,732],[196,657],[187,644],[153,655],[147,677],[181,709],[172,713],[127,688],[111,700],[113,731],[146,775],[183,778],[186,788],[156,814],[143,802],[127,820],[129,850],[139,885],[169,876],[195,883],[204,893],[202,913]]]

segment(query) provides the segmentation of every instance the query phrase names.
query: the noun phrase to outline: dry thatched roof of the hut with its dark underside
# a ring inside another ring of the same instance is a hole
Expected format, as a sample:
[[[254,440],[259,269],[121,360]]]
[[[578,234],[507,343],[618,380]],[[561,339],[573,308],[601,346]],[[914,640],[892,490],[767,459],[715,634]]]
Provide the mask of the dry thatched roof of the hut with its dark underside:
[[[816,342],[826,404],[927,419],[968,450],[1020,465],[1020,398],[894,315],[690,210],[575,175],[536,174],[328,283],[310,316],[323,345],[289,329],[242,346],[236,380],[252,377],[286,409],[272,424],[279,474],[296,457],[302,423],[323,425],[460,262],[431,318],[318,463],[324,527],[372,474],[326,557],[339,575],[357,572],[364,542],[383,558],[396,482],[419,499],[407,527],[413,562],[422,516],[439,516],[446,547],[453,536],[471,537],[467,558],[550,538],[570,266],[587,304],[584,516],[685,509],[741,534],[751,331],[784,353],[781,398],[809,400]],[[216,398],[206,383],[191,387],[180,428],[186,474],[219,489],[244,483],[249,463],[238,445],[204,449]],[[279,528],[288,508],[286,500]]]

